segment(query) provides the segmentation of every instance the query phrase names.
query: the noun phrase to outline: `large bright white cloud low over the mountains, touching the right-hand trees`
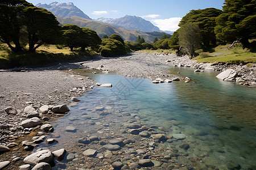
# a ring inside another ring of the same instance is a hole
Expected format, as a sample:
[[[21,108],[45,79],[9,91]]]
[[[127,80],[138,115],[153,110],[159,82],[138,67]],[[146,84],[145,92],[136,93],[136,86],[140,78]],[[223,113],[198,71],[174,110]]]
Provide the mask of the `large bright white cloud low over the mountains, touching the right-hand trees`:
[[[156,27],[160,28],[162,31],[176,31],[179,26],[181,18],[168,18],[168,19],[154,19],[152,23],[156,25]]]

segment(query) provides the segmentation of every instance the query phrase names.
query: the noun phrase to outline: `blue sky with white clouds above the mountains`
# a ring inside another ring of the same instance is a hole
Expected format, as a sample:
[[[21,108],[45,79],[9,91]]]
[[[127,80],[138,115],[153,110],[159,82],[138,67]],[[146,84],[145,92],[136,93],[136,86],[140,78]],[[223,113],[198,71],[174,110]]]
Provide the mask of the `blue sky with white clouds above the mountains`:
[[[27,1],[37,5],[49,4],[54,0]],[[57,0],[57,2],[73,2],[92,19],[135,15],[149,20],[162,31],[176,31],[181,18],[190,10],[209,7],[222,10],[224,0]]]

